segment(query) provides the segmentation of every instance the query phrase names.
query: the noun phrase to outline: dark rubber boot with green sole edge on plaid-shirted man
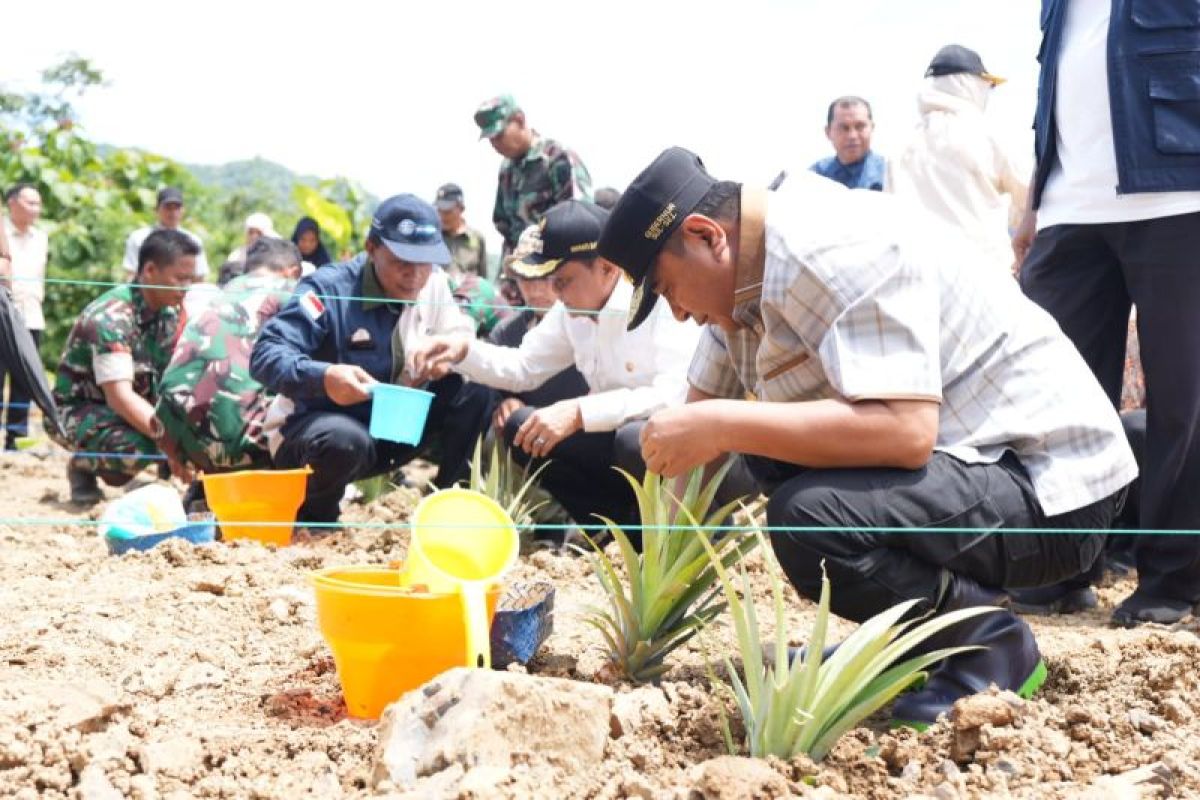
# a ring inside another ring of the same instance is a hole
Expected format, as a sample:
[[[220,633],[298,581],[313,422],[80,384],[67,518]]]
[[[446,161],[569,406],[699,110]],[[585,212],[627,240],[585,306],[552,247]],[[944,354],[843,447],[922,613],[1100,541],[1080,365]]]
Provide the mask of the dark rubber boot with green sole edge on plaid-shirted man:
[[[964,620],[934,637],[938,648],[982,646],[943,661],[918,692],[892,706],[892,726],[924,730],[947,714],[955,700],[978,694],[995,684],[1028,699],[1046,679],[1046,666],[1033,631],[1010,610]]]

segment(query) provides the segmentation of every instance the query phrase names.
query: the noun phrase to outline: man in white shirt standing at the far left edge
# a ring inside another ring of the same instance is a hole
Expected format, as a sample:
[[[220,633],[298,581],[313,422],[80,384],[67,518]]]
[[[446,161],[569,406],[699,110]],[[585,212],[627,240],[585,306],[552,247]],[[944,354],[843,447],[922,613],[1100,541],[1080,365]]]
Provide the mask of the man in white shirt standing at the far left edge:
[[[37,227],[42,216],[42,196],[29,184],[17,184],[5,192],[8,217],[4,221],[12,259],[12,300],[25,318],[25,325],[38,344],[46,329],[42,301],[46,299],[46,263],[49,240]],[[0,365],[0,402],[4,401],[4,365]],[[10,381],[5,414],[5,450],[14,450],[17,438],[29,435],[29,396]]]

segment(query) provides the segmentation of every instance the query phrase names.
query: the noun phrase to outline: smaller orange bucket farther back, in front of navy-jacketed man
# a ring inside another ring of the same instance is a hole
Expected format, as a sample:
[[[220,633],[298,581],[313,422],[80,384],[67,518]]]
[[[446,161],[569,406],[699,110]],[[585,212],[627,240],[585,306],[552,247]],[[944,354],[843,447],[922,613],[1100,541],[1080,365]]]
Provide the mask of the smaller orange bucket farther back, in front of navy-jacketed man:
[[[217,517],[222,539],[253,539],[288,545],[296,512],[304,504],[312,469],[251,469],[203,475],[204,497]],[[289,523],[258,525],[254,523]]]

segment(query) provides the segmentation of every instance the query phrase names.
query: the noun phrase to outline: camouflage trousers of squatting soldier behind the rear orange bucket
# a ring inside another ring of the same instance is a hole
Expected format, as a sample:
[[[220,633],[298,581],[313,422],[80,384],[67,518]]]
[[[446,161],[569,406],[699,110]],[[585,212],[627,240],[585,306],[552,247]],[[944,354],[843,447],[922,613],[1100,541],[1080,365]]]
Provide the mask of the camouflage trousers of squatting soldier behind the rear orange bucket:
[[[235,469],[270,469],[263,420],[270,397],[266,392],[250,403],[244,397],[218,393],[212,403],[199,404],[191,398],[185,407],[163,393],[155,414],[163,429],[187,463],[205,473]]]

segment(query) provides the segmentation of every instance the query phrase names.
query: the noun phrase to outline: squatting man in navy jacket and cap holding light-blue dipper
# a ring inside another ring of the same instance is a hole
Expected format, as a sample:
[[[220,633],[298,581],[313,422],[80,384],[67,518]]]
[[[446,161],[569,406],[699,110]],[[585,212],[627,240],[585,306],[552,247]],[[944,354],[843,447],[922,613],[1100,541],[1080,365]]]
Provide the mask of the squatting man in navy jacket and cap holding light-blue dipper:
[[[449,263],[437,211],[398,194],[376,211],[365,253],[301,281],[263,327],[250,369],[278,393],[266,417],[268,445],[276,467],[313,468],[299,522],[336,521],[348,483],[396,469],[432,435],[442,452],[434,483],[451,486],[467,474],[492,393],[457,375],[427,386],[436,397],[416,447],[368,433],[372,385],[412,383],[406,353],[431,335],[474,335],[445,273],[433,269]]]

